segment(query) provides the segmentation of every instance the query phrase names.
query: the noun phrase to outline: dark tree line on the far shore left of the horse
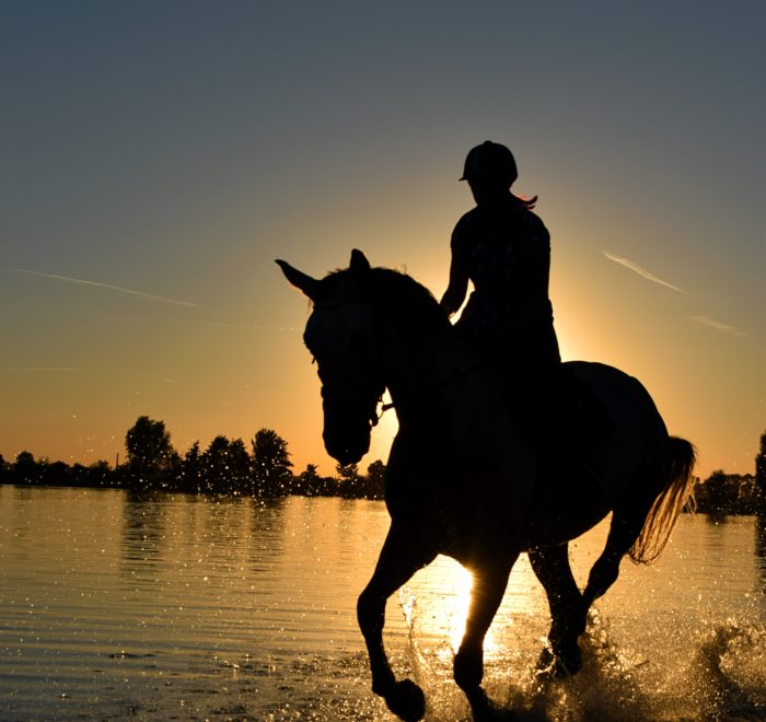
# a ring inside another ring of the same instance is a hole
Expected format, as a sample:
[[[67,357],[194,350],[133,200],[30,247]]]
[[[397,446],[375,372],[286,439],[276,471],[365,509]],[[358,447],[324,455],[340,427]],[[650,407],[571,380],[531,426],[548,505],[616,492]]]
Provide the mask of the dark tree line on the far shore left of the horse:
[[[132,491],[176,491],[220,496],[275,498],[288,494],[383,499],[385,465],[381,461],[362,474],[356,464],[336,465],[336,476],[321,476],[315,464],[293,474],[288,444],[272,429],[260,429],[249,443],[216,436],[207,449],[199,442],[182,456],[163,421],[138,418],[125,435],[125,462],[90,466],[35,459],[21,452],[14,462],[0,456],[0,484],[19,486],[82,486]]]

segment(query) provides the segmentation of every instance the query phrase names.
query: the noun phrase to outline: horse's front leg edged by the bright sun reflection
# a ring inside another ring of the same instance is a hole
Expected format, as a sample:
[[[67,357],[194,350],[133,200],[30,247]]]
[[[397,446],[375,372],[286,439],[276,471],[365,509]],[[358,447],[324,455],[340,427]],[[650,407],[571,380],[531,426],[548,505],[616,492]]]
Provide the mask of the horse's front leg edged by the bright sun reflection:
[[[465,622],[465,633],[454,660],[457,686],[468,698],[474,718],[487,711],[488,700],[481,689],[484,678],[484,638],[502,602],[518,552],[504,559],[492,559],[473,567],[471,607]]]

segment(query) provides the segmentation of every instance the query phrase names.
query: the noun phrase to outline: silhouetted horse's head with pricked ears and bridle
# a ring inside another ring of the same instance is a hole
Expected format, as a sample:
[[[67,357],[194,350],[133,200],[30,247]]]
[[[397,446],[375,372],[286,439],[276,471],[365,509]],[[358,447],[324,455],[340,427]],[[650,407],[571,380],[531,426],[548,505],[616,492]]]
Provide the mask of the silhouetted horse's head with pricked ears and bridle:
[[[369,299],[370,264],[353,251],[347,270],[317,280],[283,260],[277,263],[288,281],[313,302],[303,340],[322,381],[325,449],[340,464],[356,464],[370,449],[385,389]]]

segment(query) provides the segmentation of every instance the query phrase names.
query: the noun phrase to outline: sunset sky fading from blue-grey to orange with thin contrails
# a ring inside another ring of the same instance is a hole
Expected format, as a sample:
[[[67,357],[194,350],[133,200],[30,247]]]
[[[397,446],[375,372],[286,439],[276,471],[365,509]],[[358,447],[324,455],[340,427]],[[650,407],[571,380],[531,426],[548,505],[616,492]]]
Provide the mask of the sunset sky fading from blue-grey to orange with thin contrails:
[[[539,195],[565,358],[638,376],[703,477],[752,473],[765,31],[763,0],[2,2],[0,454],[114,463],[148,415],[332,473],[274,259],[358,247],[440,295],[491,139]]]

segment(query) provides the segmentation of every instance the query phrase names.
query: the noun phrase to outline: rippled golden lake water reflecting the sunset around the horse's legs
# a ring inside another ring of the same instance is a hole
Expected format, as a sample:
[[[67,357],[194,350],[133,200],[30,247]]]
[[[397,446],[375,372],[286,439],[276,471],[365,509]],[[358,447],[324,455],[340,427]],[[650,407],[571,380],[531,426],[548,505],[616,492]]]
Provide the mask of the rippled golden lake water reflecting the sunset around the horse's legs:
[[[387,524],[382,502],[0,487],[0,719],[393,719],[355,616]],[[581,583],[605,532],[571,545]],[[522,557],[490,697],[519,719],[766,719],[766,524],[685,515],[659,562],[622,569],[582,672],[547,680]],[[440,558],[388,603],[388,653],[430,720],[469,719],[451,674],[469,584]]]

